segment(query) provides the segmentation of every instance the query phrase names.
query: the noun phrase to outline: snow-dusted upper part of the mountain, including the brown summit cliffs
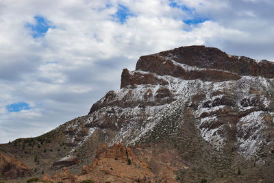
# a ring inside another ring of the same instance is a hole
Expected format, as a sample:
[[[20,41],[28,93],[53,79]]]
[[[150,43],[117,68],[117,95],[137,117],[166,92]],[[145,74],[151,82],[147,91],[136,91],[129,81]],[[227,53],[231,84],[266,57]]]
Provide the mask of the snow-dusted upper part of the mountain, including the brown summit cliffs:
[[[112,143],[132,144],[176,134],[187,112],[213,147],[260,161],[263,144],[273,150],[273,71],[272,62],[202,46],[143,56],[136,71],[124,69],[121,90],[92,106],[86,126],[119,128]]]

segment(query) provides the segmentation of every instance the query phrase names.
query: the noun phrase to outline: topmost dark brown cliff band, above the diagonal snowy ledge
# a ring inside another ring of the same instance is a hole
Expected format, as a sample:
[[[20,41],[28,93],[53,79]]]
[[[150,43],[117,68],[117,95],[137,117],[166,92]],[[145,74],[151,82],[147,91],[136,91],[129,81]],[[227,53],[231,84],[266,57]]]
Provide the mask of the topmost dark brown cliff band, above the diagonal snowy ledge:
[[[160,64],[160,58],[174,60],[180,64],[195,66],[200,69],[216,69],[238,75],[274,77],[273,62],[253,60],[244,56],[230,56],[219,49],[204,46],[179,47],[151,56],[142,56],[136,64],[136,70],[151,71],[149,66],[156,63]],[[156,67],[158,67],[157,64]]]

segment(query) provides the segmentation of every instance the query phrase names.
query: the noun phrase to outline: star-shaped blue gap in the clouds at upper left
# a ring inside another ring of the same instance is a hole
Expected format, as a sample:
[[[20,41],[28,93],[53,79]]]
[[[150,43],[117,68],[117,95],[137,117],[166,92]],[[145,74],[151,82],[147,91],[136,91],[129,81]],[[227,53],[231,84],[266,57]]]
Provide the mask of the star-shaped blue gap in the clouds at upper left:
[[[25,27],[32,30],[32,37],[39,38],[44,37],[49,28],[55,28],[54,26],[49,25],[49,21],[43,16],[34,16],[36,21],[35,24],[27,23]]]

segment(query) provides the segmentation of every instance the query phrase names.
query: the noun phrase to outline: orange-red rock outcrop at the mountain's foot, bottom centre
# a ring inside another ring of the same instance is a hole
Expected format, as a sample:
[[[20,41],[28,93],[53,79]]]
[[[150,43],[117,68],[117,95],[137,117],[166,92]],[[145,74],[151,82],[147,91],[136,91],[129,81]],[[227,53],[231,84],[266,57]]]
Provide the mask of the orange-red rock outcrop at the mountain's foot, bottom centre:
[[[162,149],[156,144],[133,147],[103,144],[92,164],[83,167],[77,182],[176,182],[175,171],[188,168],[178,157],[174,149]]]

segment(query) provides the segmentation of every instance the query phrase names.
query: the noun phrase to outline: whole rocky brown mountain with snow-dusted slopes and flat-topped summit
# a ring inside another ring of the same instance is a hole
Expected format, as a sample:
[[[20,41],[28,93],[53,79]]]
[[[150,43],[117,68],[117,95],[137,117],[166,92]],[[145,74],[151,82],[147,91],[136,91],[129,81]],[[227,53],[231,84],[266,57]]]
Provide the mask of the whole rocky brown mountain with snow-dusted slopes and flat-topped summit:
[[[273,86],[267,60],[162,51],[124,69],[88,115],[0,151],[44,182],[273,182]]]

